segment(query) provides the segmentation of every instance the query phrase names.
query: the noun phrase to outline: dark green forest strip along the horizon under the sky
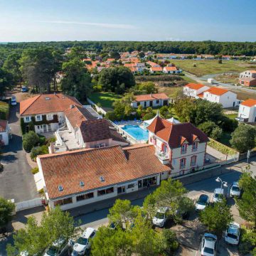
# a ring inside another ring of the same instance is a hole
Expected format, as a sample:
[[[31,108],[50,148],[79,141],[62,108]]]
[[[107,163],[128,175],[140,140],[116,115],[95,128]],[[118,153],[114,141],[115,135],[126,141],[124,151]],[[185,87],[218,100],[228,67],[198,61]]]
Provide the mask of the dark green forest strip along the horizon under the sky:
[[[216,41],[63,41],[63,42],[31,42],[6,43],[0,45],[4,49],[25,49],[49,46],[65,50],[73,46],[82,46],[85,50],[96,53],[117,50],[119,52],[133,50],[154,51],[155,53],[191,53],[213,55],[256,55],[256,42],[216,42]]]

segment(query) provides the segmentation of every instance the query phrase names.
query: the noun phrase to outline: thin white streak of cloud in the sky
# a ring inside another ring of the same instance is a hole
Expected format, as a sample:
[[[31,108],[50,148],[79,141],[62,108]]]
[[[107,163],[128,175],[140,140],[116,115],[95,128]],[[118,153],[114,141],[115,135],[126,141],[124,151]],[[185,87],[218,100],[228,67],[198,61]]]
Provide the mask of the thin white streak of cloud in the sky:
[[[133,26],[130,24],[117,24],[117,23],[95,23],[95,22],[79,22],[79,21],[38,21],[38,22],[98,26],[101,28],[122,28],[122,29],[136,29],[137,28],[136,26]]]

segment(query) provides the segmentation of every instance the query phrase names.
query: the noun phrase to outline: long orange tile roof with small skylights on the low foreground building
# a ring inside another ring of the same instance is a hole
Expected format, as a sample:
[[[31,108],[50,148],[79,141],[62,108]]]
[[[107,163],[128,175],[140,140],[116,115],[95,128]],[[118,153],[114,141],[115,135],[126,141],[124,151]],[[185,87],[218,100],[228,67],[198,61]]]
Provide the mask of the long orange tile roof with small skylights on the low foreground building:
[[[157,159],[153,145],[81,149],[38,156],[38,159],[49,198],[83,193],[170,170]],[[104,181],[100,181],[100,176]],[[85,186],[81,187],[80,181]],[[63,186],[63,191],[58,191],[59,185]]]

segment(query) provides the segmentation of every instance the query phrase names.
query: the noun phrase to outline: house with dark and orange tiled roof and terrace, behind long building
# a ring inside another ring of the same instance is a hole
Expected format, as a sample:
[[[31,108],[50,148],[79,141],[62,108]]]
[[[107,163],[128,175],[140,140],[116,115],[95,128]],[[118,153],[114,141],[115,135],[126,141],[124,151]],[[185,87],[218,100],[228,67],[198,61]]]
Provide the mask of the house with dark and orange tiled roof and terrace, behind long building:
[[[50,146],[50,153],[81,148],[129,145],[109,120],[97,119],[83,107],[70,105],[64,114],[65,127],[55,132],[57,140],[54,147]]]

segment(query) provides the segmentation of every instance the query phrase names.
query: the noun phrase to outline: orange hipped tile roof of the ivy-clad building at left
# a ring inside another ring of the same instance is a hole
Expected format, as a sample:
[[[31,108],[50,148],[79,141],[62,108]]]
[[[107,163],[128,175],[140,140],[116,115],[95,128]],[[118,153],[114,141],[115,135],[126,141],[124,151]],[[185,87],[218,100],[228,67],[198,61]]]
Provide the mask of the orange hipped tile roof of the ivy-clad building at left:
[[[68,109],[70,105],[81,106],[80,102],[78,102],[75,97],[63,95],[62,93],[38,95],[21,101],[20,114],[23,116],[27,114],[63,112]]]

